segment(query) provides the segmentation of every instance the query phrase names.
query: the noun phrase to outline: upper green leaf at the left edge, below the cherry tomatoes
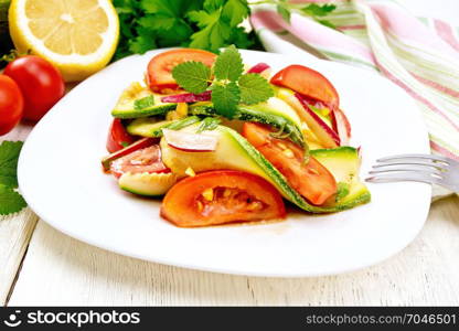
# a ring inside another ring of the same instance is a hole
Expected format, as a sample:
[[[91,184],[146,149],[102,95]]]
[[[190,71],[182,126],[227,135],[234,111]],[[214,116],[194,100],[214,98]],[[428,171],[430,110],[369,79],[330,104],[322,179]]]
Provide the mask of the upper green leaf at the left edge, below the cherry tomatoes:
[[[3,141],[0,145],[0,184],[18,188],[18,159],[22,141]]]

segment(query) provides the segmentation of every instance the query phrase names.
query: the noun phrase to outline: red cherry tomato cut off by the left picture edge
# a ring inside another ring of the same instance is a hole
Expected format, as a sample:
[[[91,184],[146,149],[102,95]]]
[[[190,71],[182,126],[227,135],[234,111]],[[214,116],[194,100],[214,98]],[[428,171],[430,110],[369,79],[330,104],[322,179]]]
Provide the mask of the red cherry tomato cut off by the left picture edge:
[[[13,79],[0,75],[0,136],[7,135],[21,120],[24,99]]]

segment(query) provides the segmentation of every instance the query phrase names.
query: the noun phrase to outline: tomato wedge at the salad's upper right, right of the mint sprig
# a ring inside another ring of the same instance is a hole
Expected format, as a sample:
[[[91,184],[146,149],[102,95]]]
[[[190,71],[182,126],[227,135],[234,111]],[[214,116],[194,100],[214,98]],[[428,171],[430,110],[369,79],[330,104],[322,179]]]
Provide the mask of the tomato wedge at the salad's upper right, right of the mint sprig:
[[[271,84],[288,87],[307,97],[325,103],[332,109],[340,105],[338,92],[330,81],[307,66],[289,65],[273,76]]]

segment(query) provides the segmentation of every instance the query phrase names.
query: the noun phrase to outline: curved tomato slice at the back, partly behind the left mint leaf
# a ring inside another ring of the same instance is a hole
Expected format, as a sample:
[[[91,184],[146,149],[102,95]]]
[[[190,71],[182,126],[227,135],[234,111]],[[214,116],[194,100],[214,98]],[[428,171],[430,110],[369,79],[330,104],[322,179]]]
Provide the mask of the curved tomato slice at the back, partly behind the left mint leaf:
[[[216,55],[214,53],[203,50],[181,49],[163,52],[151,58],[148,64],[148,85],[151,90],[158,93],[169,93],[179,89],[179,85],[172,77],[172,68],[175,65],[186,61],[198,61],[211,67],[215,58]]]

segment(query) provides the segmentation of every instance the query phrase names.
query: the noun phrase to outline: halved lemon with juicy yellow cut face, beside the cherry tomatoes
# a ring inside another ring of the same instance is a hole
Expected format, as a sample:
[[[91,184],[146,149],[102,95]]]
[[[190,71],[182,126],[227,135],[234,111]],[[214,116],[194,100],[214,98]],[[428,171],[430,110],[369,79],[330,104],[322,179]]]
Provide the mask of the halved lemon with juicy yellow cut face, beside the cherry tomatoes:
[[[106,66],[119,36],[110,0],[12,0],[9,24],[17,50],[46,58],[66,82]]]

